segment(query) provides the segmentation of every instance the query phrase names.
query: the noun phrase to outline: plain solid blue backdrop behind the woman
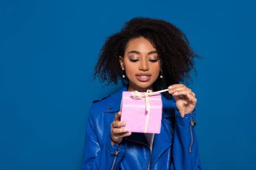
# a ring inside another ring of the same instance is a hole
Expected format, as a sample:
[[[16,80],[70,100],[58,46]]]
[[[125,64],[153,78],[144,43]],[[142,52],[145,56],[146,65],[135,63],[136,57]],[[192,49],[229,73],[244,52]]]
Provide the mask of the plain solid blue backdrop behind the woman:
[[[0,169],[80,169],[104,40],[136,16],[187,34],[203,169],[256,169],[253,1],[0,0]]]

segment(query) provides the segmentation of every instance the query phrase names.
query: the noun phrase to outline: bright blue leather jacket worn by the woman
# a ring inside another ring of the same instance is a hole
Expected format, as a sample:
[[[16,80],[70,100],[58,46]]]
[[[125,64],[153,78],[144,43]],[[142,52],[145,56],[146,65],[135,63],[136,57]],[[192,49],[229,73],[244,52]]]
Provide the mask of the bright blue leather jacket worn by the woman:
[[[123,91],[127,87],[92,103],[83,169],[201,169],[193,127],[195,111],[182,118],[174,99],[164,96],[161,131],[154,136],[152,151],[143,133],[132,133],[113,146],[110,124],[120,110]]]

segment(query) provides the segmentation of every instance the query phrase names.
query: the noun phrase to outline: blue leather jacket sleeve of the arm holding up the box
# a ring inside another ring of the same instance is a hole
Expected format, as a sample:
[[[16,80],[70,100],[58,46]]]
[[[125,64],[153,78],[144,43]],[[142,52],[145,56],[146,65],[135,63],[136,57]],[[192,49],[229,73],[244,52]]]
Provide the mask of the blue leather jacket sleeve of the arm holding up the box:
[[[86,128],[86,142],[84,146],[84,163],[82,169],[119,169],[121,160],[126,152],[125,143],[111,144],[110,136],[105,144],[100,144],[96,135],[90,113]]]

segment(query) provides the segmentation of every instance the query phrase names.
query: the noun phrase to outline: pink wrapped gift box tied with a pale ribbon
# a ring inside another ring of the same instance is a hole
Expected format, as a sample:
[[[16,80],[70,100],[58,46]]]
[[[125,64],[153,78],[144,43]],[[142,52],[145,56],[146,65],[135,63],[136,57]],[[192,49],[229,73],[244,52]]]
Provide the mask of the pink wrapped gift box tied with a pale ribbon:
[[[145,93],[141,93],[145,95]],[[121,121],[129,132],[160,133],[162,120],[162,98],[160,94],[148,97],[150,110],[146,111],[146,97],[134,97],[131,91],[123,91]]]

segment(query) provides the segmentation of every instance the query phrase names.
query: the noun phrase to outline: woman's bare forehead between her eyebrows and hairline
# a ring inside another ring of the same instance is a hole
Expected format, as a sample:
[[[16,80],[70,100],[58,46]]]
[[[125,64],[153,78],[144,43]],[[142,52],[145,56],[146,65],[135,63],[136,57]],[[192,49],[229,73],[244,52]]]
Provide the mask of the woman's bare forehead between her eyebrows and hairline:
[[[154,48],[153,44],[146,38],[138,37],[138,38],[133,38],[129,40],[125,51],[129,52],[129,50],[137,50],[139,52],[143,52],[143,51],[149,52],[149,51],[156,50],[156,48]]]

